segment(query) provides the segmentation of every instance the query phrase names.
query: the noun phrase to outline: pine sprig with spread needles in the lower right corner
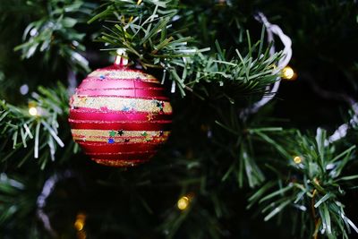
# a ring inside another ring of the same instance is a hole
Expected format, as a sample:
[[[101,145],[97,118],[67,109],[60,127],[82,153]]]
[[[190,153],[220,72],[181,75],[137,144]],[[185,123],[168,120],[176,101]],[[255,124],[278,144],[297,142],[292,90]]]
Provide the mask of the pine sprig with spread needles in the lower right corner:
[[[266,214],[265,220],[285,211],[288,206],[301,214],[302,224],[314,218],[311,231],[302,235],[316,237],[324,233],[328,238],[348,238],[350,227],[358,228],[345,216],[345,206],[340,198],[354,185],[358,175],[343,175],[343,171],[354,159],[355,146],[337,154],[337,149],[328,145],[326,132],[318,130],[315,139],[297,133],[296,148],[286,151],[287,155],[299,158],[285,158],[289,172],[277,172],[277,180],[264,184],[249,201],[259,202]],[[277,171],[277,166],[269,166]],[[285,168],[285,166],[283,166]],[[311,212],[310,212],[311,211]],[[310,215],[311,214],[311,215]]]

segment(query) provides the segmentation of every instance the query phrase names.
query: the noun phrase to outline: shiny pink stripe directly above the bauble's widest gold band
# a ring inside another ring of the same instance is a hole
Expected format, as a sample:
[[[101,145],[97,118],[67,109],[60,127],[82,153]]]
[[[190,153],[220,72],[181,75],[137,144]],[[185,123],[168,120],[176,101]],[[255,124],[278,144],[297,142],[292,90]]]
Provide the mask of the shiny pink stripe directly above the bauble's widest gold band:
[[[141,89],[78,89],[77,95],[80,97],[118,97],[121,98],[144,98],[144,99],[158,99],[169,100],[166,97],[164,90],[141,90]]]

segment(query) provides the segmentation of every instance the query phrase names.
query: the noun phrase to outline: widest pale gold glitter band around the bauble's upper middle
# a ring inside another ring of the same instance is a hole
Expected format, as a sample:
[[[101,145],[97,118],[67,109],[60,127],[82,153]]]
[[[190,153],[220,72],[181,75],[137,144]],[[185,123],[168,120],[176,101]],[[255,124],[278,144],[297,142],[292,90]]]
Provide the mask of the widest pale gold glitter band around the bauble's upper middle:
[[[72,107],[171,114],[168,101],[143,98],[83,97],[73,95]]]

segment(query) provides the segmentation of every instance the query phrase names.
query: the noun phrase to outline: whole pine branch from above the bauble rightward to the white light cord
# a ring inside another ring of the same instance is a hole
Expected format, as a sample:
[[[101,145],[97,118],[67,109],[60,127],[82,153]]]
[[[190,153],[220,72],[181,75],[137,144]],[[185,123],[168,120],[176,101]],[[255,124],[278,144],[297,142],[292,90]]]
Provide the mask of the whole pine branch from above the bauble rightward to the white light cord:
[[[276,81],[273,66],[280,55],[269,56],[268,49],[261,52],[263,34],[253,46],[248,35],[246,55],[239,50],[236,55],[227,55],[218,42],[217,51],[204,54],[209,47],[195,47],[196,39],[183,36],[184,27],[175,29],[182,25],[182,18],[188,17],[188,13],[178,11],[179,7],[177,1],[113,2],[106,4],[105,10],[90,22],[98,19],[114,22],[98,40],[107,43],[108,50],[124,48],[129,58],[144,68],[163,69],[163,81],[169,73],[169,80],[183,96],[185,90],[207,92],[204,85],[208,82],[220,86],[218,94],[225,95],[229,89],[234,91],[231,95],[240,96],[262,92],[265,86]]]

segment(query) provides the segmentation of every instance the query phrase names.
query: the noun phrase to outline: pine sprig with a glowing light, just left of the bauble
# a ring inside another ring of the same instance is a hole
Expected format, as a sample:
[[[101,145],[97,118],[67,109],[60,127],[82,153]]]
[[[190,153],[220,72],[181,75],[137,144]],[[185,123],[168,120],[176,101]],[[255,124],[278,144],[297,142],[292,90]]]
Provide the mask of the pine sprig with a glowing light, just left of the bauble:
[[[33,93],[29,107],[15,107],[4,100],[0,102],[0,131],[4,139],[1,148],[8,149],[10,141],[13,141],[12,149],[0,153],[3,163],[16,151],[30,146],[18,166],[33,155],[39,158],[38,164],[43,169],[49,159],[55,160],[57,145],[64,147],[64,142],[58,137],[58,116],[64,119],[68,115],[67,90],[58,83],[54,90],[38,87],[38,92]],[[37,115],[30,115],[30,107],[36,109]],[[46,147],[49,149],[47,153],[39,155],[39,150]]]

